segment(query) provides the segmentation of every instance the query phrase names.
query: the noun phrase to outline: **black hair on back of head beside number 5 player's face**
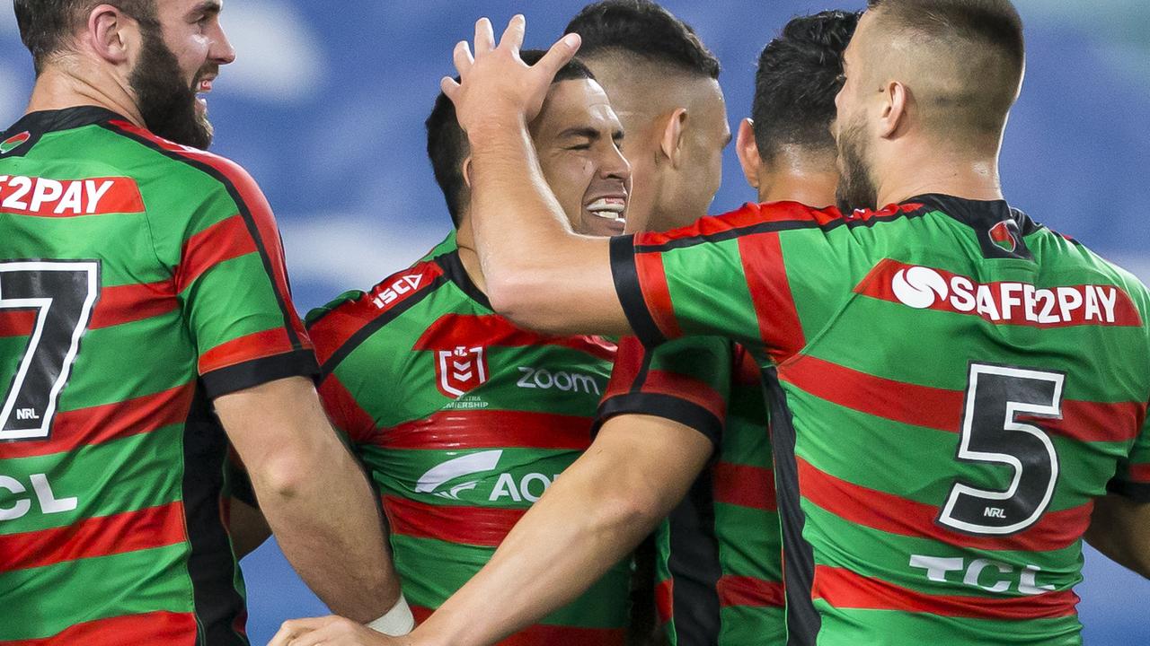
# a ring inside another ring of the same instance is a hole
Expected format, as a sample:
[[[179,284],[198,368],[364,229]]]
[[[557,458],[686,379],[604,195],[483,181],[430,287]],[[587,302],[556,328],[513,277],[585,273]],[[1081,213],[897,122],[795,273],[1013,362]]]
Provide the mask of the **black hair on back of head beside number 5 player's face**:
[[[830,122],[843,70],[843,51],[859,14],[821,11],[792,18],[759,54],[754,75],[754,143],[769,160],[783,146],[834,151]]]

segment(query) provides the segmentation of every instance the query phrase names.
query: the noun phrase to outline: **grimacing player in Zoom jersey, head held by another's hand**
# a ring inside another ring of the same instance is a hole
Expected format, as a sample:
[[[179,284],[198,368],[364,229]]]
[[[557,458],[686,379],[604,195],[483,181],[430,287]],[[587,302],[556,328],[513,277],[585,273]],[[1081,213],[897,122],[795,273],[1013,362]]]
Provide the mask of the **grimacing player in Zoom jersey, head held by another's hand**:
[[[467,137],[443,94],[427,130],[455,231],[369,292],[308,316],[321,395],[382,494],[394,566],[420,620],[486,563],[590,445],[615,353],[604,339],[539,336],[494,314],[468,213]],[[577,61],[564,67],[530,136],[573,230],[623,231],[622,134],[591,72]],[[628,563],[607,566],[583,597],[504,644],[622,645]]]

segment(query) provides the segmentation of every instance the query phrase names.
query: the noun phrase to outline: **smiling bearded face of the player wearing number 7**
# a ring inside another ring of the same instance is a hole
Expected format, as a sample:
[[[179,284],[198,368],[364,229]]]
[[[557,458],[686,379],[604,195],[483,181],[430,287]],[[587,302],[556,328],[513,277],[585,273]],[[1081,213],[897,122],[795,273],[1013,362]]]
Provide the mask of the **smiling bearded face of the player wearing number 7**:
[[[212,124],[207,101],[220,67],[236,53],[220,25],[222,0],[155,3],[159,25],[140,23],[141,49],[129,77],[144,124],[177,144],[207,148]]]

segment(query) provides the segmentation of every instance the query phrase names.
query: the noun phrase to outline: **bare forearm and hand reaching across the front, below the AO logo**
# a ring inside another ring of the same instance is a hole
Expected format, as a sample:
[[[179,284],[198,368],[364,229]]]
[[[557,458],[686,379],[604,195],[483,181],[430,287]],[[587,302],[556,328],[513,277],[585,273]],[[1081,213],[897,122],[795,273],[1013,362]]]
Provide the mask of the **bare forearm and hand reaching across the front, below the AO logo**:
[[[481,646],[574,600],[685,495],[713,449],[662,417],[612,417],[531,506],[491,561],[415,631],[376,637],[338,617],[286,622],[270,646]]]

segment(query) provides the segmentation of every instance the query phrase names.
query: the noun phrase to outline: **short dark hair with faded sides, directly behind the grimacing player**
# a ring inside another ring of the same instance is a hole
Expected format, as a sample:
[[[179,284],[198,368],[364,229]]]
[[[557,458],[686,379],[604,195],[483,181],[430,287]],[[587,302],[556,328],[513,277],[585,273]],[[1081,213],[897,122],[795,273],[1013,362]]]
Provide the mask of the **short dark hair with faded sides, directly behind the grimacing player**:
[[[620,52],[714,79],[722,71],[691,25],[651,0],[593,2],[567,23],[564,33],[582,37],[584,59]]]

